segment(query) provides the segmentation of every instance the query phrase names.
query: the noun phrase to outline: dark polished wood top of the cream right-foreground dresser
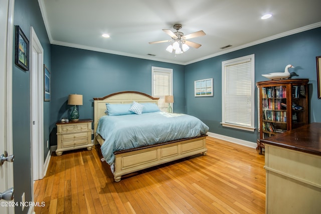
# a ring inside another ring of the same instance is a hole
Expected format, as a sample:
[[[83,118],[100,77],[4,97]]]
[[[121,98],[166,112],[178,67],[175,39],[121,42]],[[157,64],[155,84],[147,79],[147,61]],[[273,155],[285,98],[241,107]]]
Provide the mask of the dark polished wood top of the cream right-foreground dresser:
[[[321,123],[310,123],[261,142],[321,156]]]

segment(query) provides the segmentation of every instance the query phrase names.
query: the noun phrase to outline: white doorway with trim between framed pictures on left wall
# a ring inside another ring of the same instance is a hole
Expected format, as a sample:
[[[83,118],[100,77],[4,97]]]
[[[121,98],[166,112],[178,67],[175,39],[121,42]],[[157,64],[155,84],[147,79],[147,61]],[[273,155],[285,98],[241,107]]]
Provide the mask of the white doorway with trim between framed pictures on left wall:
[[[30,50],[30,118],[32,123],[30,136],[33,186],[34,180],[44,177],[44,49],[32,26],[30,27]]]

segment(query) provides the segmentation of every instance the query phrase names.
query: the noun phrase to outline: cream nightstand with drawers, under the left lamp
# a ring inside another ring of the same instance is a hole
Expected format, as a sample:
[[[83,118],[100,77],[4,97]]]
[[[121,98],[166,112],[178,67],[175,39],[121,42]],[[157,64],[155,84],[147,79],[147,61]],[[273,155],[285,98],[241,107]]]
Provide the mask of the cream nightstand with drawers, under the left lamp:
[[[90,119],[78,121],[57,122],[57,150],[61,155],[63,151],[87,148],[91,150],[91,123]]]

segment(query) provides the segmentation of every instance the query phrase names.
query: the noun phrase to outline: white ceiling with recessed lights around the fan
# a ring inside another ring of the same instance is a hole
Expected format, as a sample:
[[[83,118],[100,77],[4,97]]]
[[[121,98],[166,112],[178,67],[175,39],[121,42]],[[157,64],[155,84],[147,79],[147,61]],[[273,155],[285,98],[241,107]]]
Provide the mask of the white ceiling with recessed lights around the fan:
[[[253,44],[321,27],[320,0],[39,0],[51,44],[187,65]],[[261,16],[270,13],[268,20]],[[165,51],[162,29],[182,24],[201,44]],[[101,35],[107,33],[110,38]],[[321,36],[320,36],[321,37]],[[232,47],[220,49],[223,46]],[[151,57],[147,54],[154,54]]]

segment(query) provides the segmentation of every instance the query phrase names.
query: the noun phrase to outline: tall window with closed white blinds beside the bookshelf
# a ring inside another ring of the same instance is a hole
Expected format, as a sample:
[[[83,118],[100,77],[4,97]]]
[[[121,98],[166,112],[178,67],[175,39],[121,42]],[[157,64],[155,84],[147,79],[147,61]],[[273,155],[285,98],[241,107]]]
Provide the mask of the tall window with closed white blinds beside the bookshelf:
[[[222,62],[222,125],[254,131],[254,54]]]

